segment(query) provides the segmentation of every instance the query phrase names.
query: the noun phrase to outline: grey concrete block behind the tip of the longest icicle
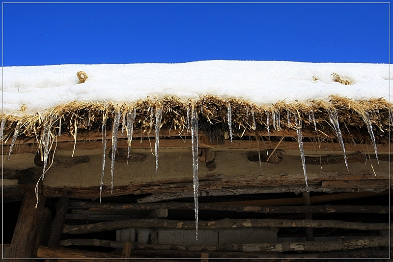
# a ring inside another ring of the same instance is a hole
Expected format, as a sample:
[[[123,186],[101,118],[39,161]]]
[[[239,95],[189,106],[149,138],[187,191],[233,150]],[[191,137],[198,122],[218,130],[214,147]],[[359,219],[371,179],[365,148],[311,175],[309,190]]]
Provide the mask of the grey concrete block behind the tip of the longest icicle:
[[[213,230],[199,230],[198,240],[195,230],[159,230],[159,245],[218,245],[218,232]]]

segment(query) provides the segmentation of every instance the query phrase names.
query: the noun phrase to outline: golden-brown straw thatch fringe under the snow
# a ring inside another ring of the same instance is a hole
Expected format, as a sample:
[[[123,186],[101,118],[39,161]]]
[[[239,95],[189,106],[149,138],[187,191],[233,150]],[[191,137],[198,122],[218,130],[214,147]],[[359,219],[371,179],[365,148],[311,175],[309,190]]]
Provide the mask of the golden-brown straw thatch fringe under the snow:
[[[148,134],[154,128],[155,109],[159,106],[163,107],[161,130],[171,130],[171,132],[175,130],[180,135],[185,135],[188,127],[187,108],[191,110],[195,107],[199,132],[205,134],[211,143],[217,143],[221,137],[228,134],[228,107],[231,107],[232,112],[234,138],[246,132],[267,136],[268,126],[271,132],[277,133],[281,130],[295,131],[301,125],[304,137],[318,136],[320,139],[335,140],[337,135],[329,116],[329,112],[334,111],[337,112],[342,137],[347,143],[370,142],[365,123],[367,115],[377,143],[389,143],[389,131],[392,128],[390,105],[384,99],[354,101],[332,96],[329,101],[279,102],[271,106],[256,106],[236,98],[204,96],[198,101],[190,100],[188,103],[183,103],[173,96],[165,96],[162,100],[148,98],[134,105],[73,102],[58,105],[45,115],[23,117],[3,115],[2,118],[6,121],[3,139],[7,141],[12,138],[15,127],[20,123],[18,139],[36,138],[40,141],[44,122],[51,127],[52,136],[57,136],[59,133],[71,137],[76,133],[85,136],[101,132],[103,122],[106,123],[107,130],[110,130],[116,112],[121,112],[122,117],[134,110],[136,112],[134,130],[139,130],[142,135]],[[314,119],[318,131],[315,131]],[[119,130],[121,128],[120,120]]]

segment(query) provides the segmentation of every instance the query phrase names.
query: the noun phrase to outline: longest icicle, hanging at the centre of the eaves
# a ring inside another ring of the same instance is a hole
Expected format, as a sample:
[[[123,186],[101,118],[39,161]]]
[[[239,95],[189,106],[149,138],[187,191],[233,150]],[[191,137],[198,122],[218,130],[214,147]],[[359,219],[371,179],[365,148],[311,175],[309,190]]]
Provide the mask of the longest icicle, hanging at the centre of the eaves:
[[[229,105],[229,103],[228,103]],[[230,107],[228,107],[229,117]],[[195,230],[198,239],[198,119],[197,110],[193,107],[191,114],[191,141],[193,148],[193,180],[194,180],[194,204],[195,204]]]

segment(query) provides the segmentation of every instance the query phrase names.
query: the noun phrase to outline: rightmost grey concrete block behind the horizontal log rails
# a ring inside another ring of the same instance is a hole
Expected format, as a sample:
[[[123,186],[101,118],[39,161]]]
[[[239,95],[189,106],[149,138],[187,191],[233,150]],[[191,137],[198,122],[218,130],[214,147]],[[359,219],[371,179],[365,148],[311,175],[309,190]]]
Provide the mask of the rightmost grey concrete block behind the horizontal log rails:
[[[219,245],[277,242],[277,230],[265,228],[223,229],[218,232]]]

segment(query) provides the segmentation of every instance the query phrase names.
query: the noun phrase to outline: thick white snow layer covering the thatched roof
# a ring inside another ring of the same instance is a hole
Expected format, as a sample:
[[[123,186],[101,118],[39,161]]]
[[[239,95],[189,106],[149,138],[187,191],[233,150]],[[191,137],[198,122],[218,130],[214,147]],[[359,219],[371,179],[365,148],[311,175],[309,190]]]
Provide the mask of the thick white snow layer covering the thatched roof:
[[[78,84],[78,71],[88,79]],[[331,73],[353,85],[333,82]],[[313,78],[318,79],[314,81]],[[3,67],[5,114],[32,115],[58,104],[116,102],[173,95],[182,101],[203,95],[236,97],[256,105],[329,99],[384,97],[389,101],[389,64],[287,61],[197,61],[188,63],[69,64]],[[21,112],[22,105],[26,111]]]

